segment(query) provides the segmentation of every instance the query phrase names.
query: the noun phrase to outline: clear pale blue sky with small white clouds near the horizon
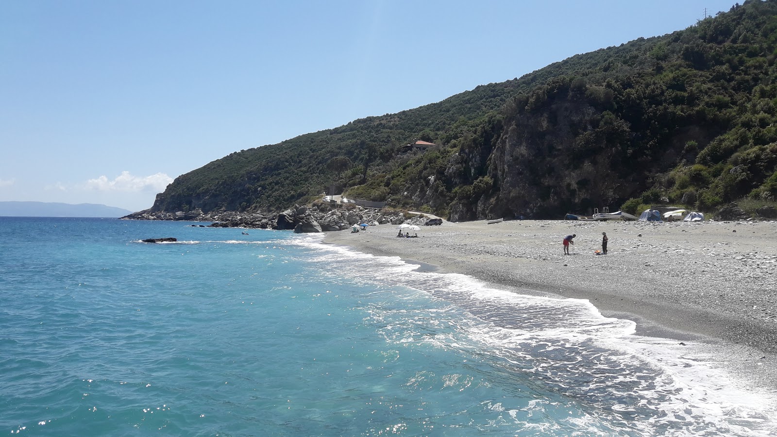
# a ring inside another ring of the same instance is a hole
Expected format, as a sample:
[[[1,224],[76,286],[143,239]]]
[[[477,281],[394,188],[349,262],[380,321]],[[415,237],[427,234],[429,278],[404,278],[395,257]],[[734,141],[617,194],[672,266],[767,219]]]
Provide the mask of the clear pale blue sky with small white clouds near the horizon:
[[[734,0],[0,0],[0,201],[140,211],[242,149],[654,37]]]

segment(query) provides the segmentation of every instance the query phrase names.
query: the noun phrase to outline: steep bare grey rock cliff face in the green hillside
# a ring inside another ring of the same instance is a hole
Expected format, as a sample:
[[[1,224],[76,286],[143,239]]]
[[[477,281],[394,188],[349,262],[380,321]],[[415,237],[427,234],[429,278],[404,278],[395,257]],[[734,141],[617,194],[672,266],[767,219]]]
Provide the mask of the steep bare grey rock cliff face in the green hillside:
[[[497,187],[481,207],[486,211],[477,214],[543,217],[565,210],[587,212],[628,198],[643,175],[616,174],[608,149],[630,138],[615,138],[613,144],[601,138],[594,153],[580,144],[580,136],[600,123],[598,110],[569,101],[508,120],[490,160]]]

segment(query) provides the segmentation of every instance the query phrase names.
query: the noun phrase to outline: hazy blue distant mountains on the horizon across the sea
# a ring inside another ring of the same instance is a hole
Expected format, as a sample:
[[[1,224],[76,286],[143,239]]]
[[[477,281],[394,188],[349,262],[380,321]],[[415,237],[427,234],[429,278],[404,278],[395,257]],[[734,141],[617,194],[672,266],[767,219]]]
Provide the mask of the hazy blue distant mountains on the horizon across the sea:
[[[5,217],[123,217],[131,213],[124,208],[82,203],[71,205],[57,202],[0,202],[0,216]]]

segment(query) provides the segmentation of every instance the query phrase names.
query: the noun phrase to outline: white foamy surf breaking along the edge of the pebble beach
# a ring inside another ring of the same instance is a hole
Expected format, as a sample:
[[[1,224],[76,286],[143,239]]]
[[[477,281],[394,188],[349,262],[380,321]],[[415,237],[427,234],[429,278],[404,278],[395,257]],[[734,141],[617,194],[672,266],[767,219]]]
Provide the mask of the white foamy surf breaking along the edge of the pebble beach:
[[[463,274],[420,272],[399,257],[376,257],[320,241],[302,236],[292,243],[318,253],[316,263],[336,267],[327,274],[447,302],[431,314],[369,309],[388,341],[427,342],[499,358],[495,365],[503,370],[587,405],[580,429],[601,432],[594,424],[621,421],[622,429],[637,435],[777,433],[772,397],[744,386],[703,344],[681,346],[633,335],[636,323],[602,316],[585,299],[521,295]],[[455,316],[461,313],[467,316]],[[455,325],[455,330],[429,329],[440,324]]]

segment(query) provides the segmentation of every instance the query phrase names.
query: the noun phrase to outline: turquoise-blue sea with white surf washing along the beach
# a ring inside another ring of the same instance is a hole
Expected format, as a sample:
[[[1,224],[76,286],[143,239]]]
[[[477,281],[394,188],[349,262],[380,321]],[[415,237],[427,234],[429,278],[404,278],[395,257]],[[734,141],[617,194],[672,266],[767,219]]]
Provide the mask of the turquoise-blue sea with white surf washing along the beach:
[[[247,232],[0,218],[0,433],[775,432],[768,399],[587,301]]]

